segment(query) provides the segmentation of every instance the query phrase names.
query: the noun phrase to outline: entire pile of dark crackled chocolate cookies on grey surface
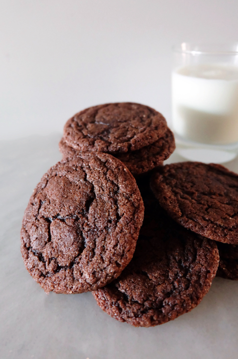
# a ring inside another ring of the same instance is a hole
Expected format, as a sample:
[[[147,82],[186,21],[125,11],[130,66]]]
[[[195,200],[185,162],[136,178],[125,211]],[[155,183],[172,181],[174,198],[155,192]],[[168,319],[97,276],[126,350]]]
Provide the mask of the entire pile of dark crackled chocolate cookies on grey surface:
[[[115,319],[149,327],[198,305],[216,274],[237,279],[238,175],[163,166],[174,148],[164,117],[144,105],[95,106],[66,123],[63,159],[21,231],[26,268],[47,293],[92,291]]]

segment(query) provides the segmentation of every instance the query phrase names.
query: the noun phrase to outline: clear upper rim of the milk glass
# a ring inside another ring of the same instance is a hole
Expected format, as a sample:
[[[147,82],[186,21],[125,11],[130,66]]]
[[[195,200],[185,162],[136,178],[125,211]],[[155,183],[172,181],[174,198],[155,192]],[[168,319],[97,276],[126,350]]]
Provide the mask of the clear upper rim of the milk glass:
[[[238,55],[238,42],[188,43],[182,42],[172,47],[173,52],[190,55]]]

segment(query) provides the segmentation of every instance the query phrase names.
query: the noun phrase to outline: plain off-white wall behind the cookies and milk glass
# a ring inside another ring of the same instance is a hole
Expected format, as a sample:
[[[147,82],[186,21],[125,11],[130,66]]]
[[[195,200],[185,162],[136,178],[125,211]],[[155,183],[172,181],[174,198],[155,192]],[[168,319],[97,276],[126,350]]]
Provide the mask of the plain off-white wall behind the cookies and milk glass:
[[[237,0],[1,0],[0,139],[62,132],[101,103],[170,121],[171,47],[238,40]]]

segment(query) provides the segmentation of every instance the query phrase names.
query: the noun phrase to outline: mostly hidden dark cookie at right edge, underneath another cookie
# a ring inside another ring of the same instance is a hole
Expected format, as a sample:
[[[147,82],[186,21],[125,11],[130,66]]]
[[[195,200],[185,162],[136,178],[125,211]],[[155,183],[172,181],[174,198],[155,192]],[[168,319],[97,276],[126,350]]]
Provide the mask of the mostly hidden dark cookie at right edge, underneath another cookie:
[[[217,242],[219,251],[219,266],[217,277],[238,280],[238,245]]]

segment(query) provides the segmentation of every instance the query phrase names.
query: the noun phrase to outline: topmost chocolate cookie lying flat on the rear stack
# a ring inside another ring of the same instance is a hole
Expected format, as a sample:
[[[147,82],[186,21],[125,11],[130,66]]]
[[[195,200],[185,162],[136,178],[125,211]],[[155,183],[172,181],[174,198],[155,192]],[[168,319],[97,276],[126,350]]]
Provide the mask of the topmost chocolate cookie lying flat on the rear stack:
[[[83,110],[64,127],[66,143],[76,150],[119,153],[135,151],[162,137],[165,118],[148,106],[105,104]]]

